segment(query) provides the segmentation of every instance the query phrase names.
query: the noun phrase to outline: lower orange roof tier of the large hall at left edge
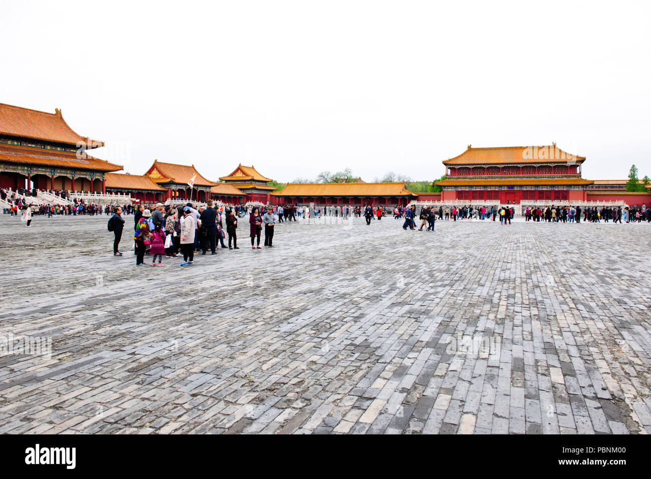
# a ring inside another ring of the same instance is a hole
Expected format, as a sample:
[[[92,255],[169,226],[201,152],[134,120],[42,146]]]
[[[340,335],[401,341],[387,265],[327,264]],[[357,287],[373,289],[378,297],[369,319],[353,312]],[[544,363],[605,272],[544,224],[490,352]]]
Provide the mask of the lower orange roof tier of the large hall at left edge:
[[[77,158],[76,152],[3,144],[0,144],[0,161],[96,171],[118,171],[122,169],[120,165],[94,158],[89,154],[80,154],[79,158]]]

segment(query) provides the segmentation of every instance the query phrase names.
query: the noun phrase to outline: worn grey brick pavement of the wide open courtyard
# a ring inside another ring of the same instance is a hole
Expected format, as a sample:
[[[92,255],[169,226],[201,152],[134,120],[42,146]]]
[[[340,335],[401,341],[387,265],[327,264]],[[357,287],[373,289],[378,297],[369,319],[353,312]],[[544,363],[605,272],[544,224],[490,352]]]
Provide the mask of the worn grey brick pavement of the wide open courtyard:
[[[53,349],[0,357],[0,433],[651,432],[651,225],[247,224],[136,268],[106,222],[0,215],[0,346]]]

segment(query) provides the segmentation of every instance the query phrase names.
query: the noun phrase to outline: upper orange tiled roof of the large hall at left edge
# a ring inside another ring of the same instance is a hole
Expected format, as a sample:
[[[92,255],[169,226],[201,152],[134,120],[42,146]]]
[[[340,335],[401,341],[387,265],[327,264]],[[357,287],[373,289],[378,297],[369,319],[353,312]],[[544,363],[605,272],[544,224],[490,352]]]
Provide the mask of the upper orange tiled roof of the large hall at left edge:
[[[75,133],[58,108],[55,113],[47,113],[0,103],[0,134],[68,145],[83,143],[91,148],[104,146],[102,141],[94,141]]]

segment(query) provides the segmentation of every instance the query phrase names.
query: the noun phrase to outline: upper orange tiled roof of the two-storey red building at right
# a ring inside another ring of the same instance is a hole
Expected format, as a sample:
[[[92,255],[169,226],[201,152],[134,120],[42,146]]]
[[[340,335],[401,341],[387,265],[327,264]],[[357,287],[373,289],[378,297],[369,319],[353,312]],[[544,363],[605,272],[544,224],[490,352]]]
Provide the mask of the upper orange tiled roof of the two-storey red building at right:
[[[573,156],[556,145],[542,147],[489,147],[468,149],[459,156],[444,160],[443,164],[456,165],[493,165],[518,163],[567,163],[575,160],[585,161],[585,156]]]

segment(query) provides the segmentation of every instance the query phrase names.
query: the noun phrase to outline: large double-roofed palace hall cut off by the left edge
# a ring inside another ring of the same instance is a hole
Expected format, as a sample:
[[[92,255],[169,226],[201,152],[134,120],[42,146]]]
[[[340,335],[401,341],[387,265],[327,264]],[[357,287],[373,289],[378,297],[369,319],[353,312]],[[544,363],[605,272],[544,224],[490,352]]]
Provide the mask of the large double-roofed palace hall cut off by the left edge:
[[[105,193],[105,175],[122,166],[90,156],[103,147],[55,113],[0,103],[0,188]]]

